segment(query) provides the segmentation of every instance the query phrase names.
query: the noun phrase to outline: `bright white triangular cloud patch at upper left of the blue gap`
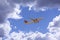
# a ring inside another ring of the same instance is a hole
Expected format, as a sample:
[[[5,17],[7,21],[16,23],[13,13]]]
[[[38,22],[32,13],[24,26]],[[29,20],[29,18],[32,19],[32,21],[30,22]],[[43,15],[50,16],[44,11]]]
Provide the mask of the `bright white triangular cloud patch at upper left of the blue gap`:
[[[10,13],[8,18],[21,19],[22,17],[20,16],[20,12],[21,12],[20,6],[17,4],[16,7],[14,8],[14,11],[12,13]]]

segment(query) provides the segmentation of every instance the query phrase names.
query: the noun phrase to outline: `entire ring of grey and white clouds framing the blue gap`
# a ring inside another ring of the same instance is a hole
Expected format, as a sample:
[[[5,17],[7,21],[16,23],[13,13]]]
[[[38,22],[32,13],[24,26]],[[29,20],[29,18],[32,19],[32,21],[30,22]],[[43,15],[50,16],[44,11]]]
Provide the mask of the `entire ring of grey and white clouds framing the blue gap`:
[[[32,4],[33,3],[33,4]],[[11,25],[8,18],[20,19],[19,7],[29,6],[29,10],[41,8],[59,8],[60,0],[0,0],[0,39],[4,40],[60,40],[60,15],[56,16],[48,25],[49,32],[24,33],[22,31],[10,33]],[[44,11],[44,9],[42,9]],[[2,24],[1,24],[2,23]]]

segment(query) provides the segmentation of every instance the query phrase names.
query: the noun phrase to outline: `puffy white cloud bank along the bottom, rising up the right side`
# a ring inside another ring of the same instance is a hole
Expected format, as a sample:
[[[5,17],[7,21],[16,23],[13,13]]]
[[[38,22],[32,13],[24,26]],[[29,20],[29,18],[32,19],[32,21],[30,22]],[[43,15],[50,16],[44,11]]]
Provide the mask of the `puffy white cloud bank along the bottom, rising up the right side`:
[[[57,24],[56,24],[57,23]],[[49,32],[43,34],[41,32],[30,31],[24,33],[23,31],[12,32],[5,40],[60,40],[60,15],[53,18],[53,21],[49,23]]]

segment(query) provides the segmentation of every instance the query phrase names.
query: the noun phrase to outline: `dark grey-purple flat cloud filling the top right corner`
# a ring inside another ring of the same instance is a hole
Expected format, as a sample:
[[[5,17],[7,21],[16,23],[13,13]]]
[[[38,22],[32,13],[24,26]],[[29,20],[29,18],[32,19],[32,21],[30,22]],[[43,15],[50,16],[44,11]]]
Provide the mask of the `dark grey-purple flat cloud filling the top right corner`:
[[[60,8],[60,0],[36,0],[36,3],[33,7],[35,10],[41,10],[41,8]]]

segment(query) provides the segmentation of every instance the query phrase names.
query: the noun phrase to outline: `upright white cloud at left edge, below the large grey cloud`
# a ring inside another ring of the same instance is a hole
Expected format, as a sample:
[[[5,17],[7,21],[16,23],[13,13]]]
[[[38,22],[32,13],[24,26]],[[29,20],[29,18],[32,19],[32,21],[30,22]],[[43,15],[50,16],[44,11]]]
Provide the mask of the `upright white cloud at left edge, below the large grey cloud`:
[[[5,23],[0,24],[0,28],[2,29],[1,33],[3,32],[2,33],[2,37],[8,36],[9,32],[11,31],[11,27],[10,27],[9,21],[6,21]]]

